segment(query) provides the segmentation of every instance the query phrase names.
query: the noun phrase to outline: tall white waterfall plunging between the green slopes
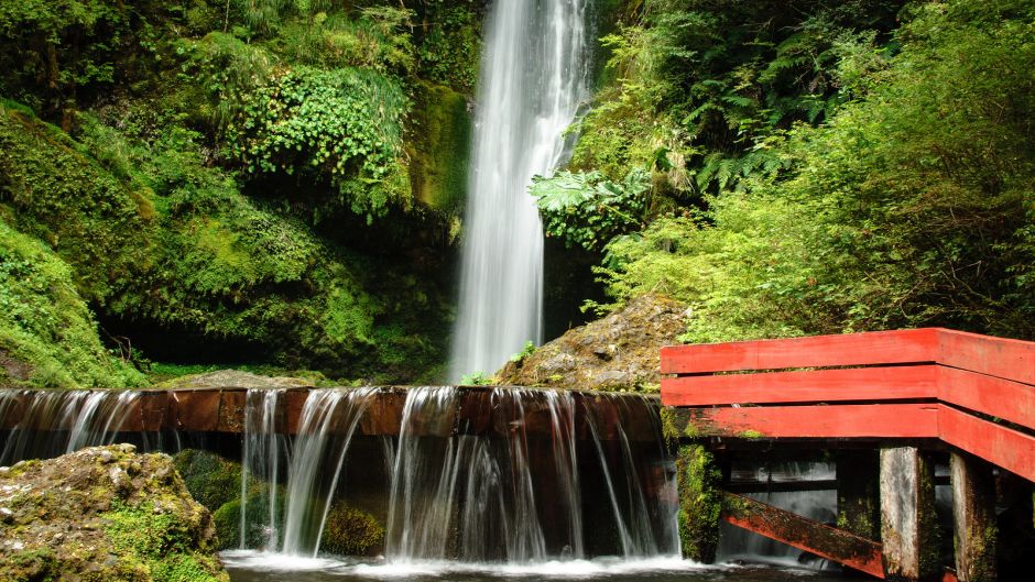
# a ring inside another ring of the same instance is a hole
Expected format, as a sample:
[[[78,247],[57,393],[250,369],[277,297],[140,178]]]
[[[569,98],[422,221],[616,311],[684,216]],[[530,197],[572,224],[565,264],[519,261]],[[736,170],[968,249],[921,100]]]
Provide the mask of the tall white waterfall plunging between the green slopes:
[[[542,341],[543,229],[532,176],[564,161],[588,91],[590,0],[499,0],[479,80],[451,380]]]

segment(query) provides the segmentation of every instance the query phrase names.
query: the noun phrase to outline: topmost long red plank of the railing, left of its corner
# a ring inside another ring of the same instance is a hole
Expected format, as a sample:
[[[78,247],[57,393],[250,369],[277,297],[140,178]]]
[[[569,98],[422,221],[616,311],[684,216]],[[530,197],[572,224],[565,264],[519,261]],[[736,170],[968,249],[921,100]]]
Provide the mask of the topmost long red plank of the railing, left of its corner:
[[[934,362],[939,329],[662,348],[663,374]]]

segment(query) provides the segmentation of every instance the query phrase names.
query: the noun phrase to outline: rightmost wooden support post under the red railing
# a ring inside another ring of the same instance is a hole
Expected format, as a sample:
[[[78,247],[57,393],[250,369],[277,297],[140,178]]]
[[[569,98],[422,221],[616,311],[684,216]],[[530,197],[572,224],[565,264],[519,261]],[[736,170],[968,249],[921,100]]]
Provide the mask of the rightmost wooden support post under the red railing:
[[[952,453],[952,523],[959,582],[992,582],[995,573],[995,481],[992,466]]]

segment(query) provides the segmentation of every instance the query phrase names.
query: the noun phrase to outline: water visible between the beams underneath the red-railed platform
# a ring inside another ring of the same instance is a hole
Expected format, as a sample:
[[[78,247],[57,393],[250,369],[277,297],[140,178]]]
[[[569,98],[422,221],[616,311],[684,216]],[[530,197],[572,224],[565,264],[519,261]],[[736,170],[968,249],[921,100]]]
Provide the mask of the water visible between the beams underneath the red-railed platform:
[[[750,476],[760,482],[834,481],[837,474],[835,464],[826,462],[772,463],[741,469],[740,473],[741,477],[751,474]],[[835,490],[763,492],[750,493],[747,496],[816,521],[832,523],[837,519]],[[723,524],[719,561],[744,560],[802,565],[805,558],[797,548]],[[825,560],[820,560],[815,565],[822,568],[825,563]]]

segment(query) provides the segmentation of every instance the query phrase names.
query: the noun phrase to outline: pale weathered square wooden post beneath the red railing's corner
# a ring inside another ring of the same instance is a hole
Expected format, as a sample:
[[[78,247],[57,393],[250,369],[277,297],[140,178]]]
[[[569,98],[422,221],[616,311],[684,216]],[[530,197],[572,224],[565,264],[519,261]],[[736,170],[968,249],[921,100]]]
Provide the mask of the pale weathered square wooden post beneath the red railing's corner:
[[[885,580],[916,582],[941,578],[934,474],[934,464],[915,447],[881,450]]]

